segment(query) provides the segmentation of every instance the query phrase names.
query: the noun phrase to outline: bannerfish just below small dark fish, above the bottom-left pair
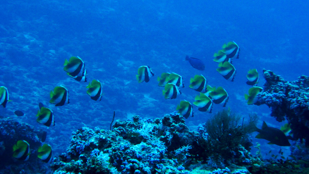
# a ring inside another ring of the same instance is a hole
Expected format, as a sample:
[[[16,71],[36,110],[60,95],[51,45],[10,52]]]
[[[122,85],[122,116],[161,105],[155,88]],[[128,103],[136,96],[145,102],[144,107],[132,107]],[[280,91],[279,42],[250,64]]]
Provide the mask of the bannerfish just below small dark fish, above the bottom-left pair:
[[[41,107],[41,109],[36,114],[36,121],[40,124],[44,124],[45,126],[54,126],[54,114],[53,111],[46,107]]]

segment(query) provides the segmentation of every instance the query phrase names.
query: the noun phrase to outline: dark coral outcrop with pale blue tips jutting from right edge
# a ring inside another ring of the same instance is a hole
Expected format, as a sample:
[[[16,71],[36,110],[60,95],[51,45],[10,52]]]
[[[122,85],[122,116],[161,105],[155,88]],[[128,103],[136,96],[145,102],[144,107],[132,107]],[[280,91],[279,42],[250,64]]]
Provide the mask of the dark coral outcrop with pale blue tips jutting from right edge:
[[[265,69],[263,76],[266,80],[264,91],[257,95],[255,104],[271,107],[271,116],[279,122],[288,120],[293,138],[305,139],[309,146],[309,77],[300,76],[289,82]]]

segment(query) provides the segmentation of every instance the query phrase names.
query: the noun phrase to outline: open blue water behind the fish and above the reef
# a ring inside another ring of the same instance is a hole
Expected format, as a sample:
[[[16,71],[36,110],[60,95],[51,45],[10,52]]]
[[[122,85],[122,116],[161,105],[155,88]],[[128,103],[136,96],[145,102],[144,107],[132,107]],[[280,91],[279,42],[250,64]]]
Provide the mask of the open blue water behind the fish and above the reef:
[[[260,87],[265,82],[263,68],[287,81],[308,76],[308,7],[301,1],[1,1],[0,86],[8,89],[12,101],[0,107],[0,116],[46,131],[45,143],[52,146],[55,157],[66,151],[72,132],[79,128],[109,130],[113,111],[115,120],[133,115],[156,119],[176,111],[181,100],[193,102],[199,93],[188,88],[190,78],[202,74],[209,85],[226,90],[226,109],[247,120],[256,113],[258,128],[263,121],[280,128],[286,122],[271,117],[269,107],[247,105],[246,75],[256,68]],[[218,63],[212,60],[229,41],[240,48],[239,59],[233,60],[232,82],[216,72]],[[205,70],[194,69],[186,55],[202,60]],[[83,59],[88,82],[78,82],[63,71],[71,56]],[[155,73],[148,83],[136,80],[140,66]],[[162,95],[156,79],[163,72],[184,79],[176,99]],[[86,93],[93,79],[102,83],[101,101]],[[49,93],[58,85],[69,90],[70,103],[55,107],[49,103]],[[36,122],[39,102],[53,110],[55,126]],[[193,109],[194,117],[185,119],[185,124],[197,131],[223,107],[214,105],[213,113]],[[25,115],[16,116],[16,110]],[[256,134],[251,137],[254,146],[260,143],[262,158],[270,158],[270,150],[282,149],[285,158],[290,155],[290,147],[268,145],[269,141],[254,138]],[[256,150],[252,146],[252,154]],[[11,165],[21,163],[27,161]]]

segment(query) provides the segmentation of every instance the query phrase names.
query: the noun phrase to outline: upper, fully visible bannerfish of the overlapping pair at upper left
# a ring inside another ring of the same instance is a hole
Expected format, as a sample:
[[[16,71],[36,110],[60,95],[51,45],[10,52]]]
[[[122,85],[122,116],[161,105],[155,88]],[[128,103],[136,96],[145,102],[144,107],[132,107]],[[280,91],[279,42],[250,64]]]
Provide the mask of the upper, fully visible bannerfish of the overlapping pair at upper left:
[[[83,76],[85,63],[81,58],[72,56],[69,61],[66,59],[63,66],[64,71],[68,72],[70,77]]]

